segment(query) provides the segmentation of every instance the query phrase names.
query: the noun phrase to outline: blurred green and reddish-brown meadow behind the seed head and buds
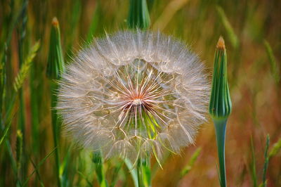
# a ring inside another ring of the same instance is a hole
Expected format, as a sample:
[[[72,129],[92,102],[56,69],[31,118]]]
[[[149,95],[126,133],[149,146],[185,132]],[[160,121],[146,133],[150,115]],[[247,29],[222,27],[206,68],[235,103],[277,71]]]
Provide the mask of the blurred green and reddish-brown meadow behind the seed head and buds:
[[[228,186],[260,185],[268,134],[267,186],[281,186],[281,143],[275,145],[281,138],[281,1],[147,2],[150,30],[190,45],[206,65],[210,82],[216,42],[220,36],[226,41],[233,102],[226,136]],[[67,64],[93,37],[126,29],[128,12],[129,0],[0,1],[0,186],[57,185],[46,77],[53,17],[58,18]],[[14,88],[15,77],[37,41],[40,46],[33,49],[36,56],[22,75],[26,77],[22,88]],[[91,153],[72,146],[64,136],[59,144],[63,186],[98,186]],[[152,160],[152,186],[218,186],[211,118],[197,134],[195,146],[181,155],[166,155],[165,160],[163,169]],[[133,186],[122,162],[110,160],[103,166],[109,183]],[[188,171],[182,176],[185,167]]]

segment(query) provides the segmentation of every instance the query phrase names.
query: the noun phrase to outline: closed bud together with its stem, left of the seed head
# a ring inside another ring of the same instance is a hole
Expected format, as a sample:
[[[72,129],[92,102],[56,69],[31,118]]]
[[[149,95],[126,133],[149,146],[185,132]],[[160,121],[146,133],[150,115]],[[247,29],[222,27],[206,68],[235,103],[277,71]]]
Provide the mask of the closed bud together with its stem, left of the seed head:
[[[60,79],[60,73],[64,70],[63,50],[60,44],[60,27],[57,18],[53,18],[50,48],[48,53],[48,67],[47,77],[50,79],[51,87],[51,117],[53,127],[53,142],[55,146],[55,172],[58,180],[58,186],[60,187],[62,176],[60,175],[60,155],[59,155],[59,137],[60,137],[60,124],[58,122],[57,111],[55,110],[58,96],[55,91],[58,90],[58,84],[55,80]]]

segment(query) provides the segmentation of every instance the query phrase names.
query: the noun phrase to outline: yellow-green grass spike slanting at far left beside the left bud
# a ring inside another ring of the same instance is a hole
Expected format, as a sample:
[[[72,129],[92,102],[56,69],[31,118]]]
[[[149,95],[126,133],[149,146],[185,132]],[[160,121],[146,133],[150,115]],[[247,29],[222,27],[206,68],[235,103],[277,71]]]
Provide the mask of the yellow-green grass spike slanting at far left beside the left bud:
[[[39,41],[37,41],[37,43],[34,44],[34,46],[32,46],[32,48],[30,49],[30,53],[28,53],[27,58],[25,58],[25,62],[22,64],[22,67],[20,68],[20,72],[18,72],[17,77],[15,77],[13,88],[15,89],[16,92],[22,87],[25,78],[29,74],[30,66],[32,65],[32,60],[36,56],[39,46],[40,46]]]

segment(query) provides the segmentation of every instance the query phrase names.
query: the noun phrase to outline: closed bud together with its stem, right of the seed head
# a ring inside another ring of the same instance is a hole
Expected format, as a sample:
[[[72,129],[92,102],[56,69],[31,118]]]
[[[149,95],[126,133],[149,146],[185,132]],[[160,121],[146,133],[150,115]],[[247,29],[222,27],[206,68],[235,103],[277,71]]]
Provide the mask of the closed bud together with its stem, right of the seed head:
[[[226,123],[231,112],[232,103],[228,88],[226,46],[222,37],[218,39],[214,58],[209,113],[214,121],[221,186],[226,186],[225,142]]]

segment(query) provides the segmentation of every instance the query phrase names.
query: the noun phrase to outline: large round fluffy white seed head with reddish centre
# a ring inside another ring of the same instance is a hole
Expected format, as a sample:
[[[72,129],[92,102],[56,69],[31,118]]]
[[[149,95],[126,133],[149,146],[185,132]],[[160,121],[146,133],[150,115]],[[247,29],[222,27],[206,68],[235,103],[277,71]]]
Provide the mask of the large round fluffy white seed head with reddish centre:
[[[78,145],[105,158],[179,153],[206,120],[209,82],[184,44],[152,32],[94,39],[62,75],[57,109]]]

